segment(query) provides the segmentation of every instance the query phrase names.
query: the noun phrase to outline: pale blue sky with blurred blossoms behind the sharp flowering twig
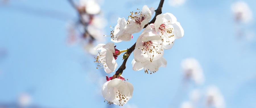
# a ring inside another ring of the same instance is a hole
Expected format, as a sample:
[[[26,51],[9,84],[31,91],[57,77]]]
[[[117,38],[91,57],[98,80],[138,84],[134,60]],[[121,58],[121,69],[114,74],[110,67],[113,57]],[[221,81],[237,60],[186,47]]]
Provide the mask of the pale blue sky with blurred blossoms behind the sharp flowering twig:
[[[106,82],[94,51],[110,42],[118,17],[160,0],[0,0],[0,108],[116,108],[101,94]],[[255,0],[165,0],[184,29],[167,67],[154,74],[132,70],[134,87],[123,108],[255,108]],[[154,16],[154,15],[153,15]],[[109,27],[111,25],[111,27]],[[115,43],[124,50],[131,41]],[[118,68],[122,63],[117,58]]]

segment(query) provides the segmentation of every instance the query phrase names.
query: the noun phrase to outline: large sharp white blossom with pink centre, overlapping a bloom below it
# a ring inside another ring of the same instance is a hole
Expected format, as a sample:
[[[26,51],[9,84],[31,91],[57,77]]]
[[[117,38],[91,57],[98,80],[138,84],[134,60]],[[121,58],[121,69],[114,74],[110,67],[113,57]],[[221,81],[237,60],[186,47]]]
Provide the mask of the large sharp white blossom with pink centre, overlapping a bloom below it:
[[[136,41],[133,56],[136,62],[156,61],[162,58],[162,39],[156,34],[154,25],[148,25]]]

